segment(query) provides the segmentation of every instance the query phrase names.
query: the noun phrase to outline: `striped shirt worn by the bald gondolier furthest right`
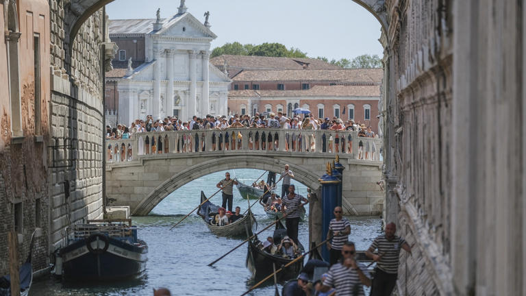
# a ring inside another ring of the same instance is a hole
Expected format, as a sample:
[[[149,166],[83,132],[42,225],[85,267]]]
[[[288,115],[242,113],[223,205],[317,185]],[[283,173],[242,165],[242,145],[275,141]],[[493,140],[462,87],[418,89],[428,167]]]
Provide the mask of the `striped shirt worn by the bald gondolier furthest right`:
[[[405,240],[395,236],[388,240],[385,235],[375,238],[369,249],[378,249],[378,255],[382,255],[376,266],[386,273],[398,273],[398,260],[400,249]]]

